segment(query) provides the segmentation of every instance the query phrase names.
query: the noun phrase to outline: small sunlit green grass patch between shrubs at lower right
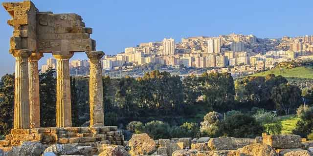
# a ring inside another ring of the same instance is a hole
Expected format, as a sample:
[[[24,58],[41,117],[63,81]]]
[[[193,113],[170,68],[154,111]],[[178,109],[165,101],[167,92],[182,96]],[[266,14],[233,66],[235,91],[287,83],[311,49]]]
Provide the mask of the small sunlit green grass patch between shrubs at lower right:
[[[295,128],[296,123],[300,120],[300,118],[295,115],[277,117],[277,119],[282,122],[283,135],[292,134],[292,130]]]

